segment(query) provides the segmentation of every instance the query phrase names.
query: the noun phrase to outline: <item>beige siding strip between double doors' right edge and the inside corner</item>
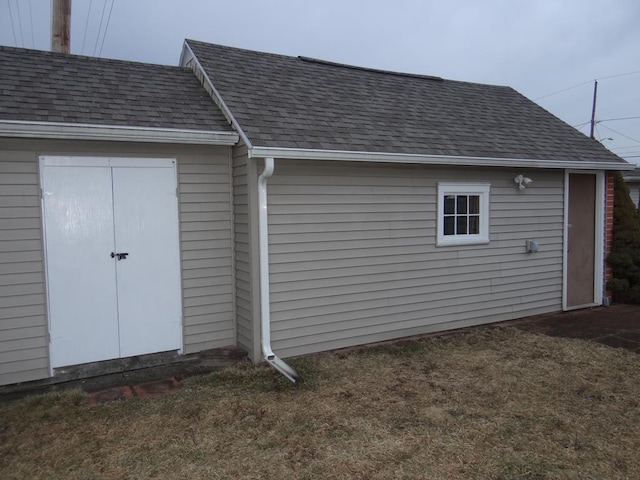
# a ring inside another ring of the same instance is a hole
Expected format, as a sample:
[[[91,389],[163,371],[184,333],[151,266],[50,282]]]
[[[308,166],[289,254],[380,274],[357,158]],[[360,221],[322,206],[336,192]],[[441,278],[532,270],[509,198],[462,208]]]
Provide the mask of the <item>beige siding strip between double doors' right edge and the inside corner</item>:
[[[235,344],[229,150],[179,155],[185,353]]]

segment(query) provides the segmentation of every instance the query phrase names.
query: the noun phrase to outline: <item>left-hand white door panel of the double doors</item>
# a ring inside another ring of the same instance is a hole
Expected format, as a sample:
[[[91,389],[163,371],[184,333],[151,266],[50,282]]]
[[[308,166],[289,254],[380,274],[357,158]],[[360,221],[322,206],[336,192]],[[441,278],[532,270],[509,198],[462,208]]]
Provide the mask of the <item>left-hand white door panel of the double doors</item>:
[[[43,166],[51,365],[119,356],[111,169]]]

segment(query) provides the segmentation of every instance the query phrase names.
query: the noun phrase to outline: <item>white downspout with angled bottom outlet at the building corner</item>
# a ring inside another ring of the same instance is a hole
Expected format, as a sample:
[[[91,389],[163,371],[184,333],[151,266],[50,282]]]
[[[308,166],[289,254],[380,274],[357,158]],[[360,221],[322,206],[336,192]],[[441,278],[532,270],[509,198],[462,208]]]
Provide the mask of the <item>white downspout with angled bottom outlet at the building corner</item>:
[[[264,159],[264,171],[258,177],[258,231],[260,234],[260,329],[262,355],[273,368],[291,380],[302,377],[271,350],[271,309],[269,305],[269,224],[267,219],[267,180],[273,175],[273,157]]]

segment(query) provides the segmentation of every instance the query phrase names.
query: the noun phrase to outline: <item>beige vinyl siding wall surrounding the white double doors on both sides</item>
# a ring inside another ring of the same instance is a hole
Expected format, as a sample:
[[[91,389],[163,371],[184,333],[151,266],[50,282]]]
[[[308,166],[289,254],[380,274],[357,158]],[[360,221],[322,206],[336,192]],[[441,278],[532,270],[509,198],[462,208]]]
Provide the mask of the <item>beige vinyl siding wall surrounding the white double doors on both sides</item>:
[[[49,376],[39,155],[177,158],[184,350],[235,344],[229,148],[3,140],[0,384]]]

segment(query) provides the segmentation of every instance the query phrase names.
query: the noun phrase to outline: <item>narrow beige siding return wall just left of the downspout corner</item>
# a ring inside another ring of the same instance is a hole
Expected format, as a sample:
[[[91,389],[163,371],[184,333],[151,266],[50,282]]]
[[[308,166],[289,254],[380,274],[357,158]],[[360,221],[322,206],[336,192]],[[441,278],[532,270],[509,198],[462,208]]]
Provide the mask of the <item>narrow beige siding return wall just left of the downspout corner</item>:
[[[235,224],[236,322],[238,346],[253,351],[253,304],[249,240],[248,159],[244,146],[233,150],[233,209]],[[259,332],[258,332],[259,334]]]

